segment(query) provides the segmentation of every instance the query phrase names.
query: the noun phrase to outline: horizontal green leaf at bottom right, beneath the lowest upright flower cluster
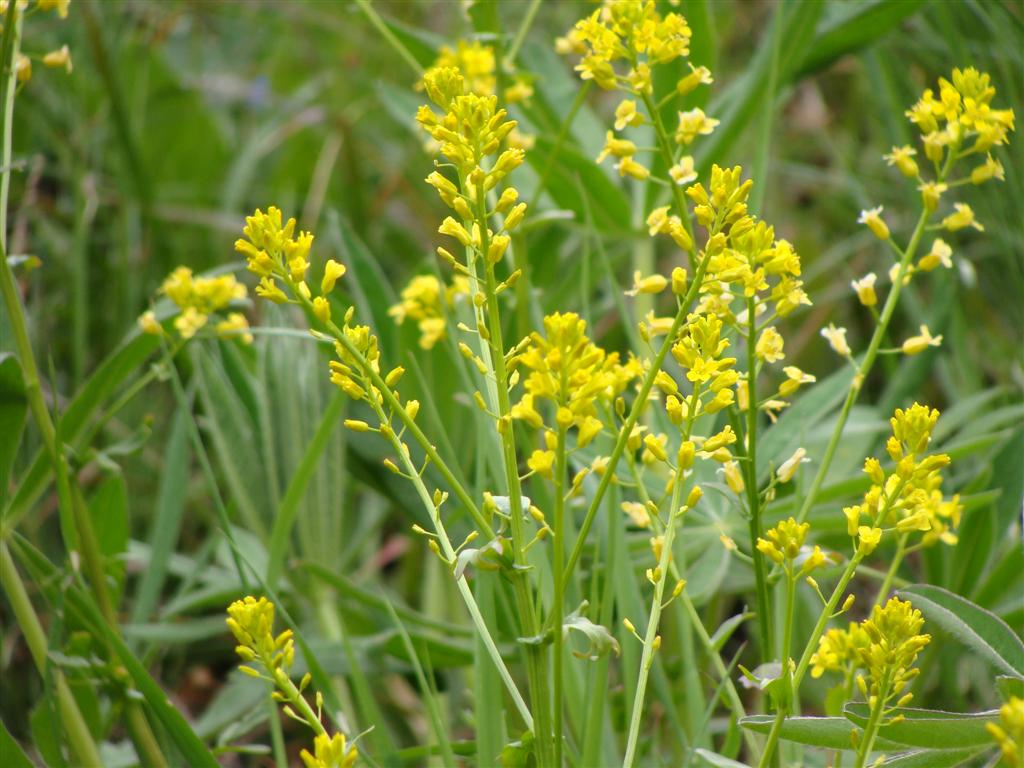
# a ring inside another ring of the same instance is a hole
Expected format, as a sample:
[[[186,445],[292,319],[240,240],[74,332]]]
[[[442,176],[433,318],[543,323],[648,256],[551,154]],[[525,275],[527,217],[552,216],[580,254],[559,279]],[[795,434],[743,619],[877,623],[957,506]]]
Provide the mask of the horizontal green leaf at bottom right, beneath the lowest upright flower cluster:
[[[866,703],[856,702],[843,710],[847,720],[863,728],[869,710]],[[915,710],[898,707],[891,717],[902,715],[898,723],[890,722],[879,728],[879,736],[897,744],[925,746],[932,750],[959,750],[967,746],[990,744],[992,736],[985,728],[994,723],[998,713],[957,713],[937,710]]]

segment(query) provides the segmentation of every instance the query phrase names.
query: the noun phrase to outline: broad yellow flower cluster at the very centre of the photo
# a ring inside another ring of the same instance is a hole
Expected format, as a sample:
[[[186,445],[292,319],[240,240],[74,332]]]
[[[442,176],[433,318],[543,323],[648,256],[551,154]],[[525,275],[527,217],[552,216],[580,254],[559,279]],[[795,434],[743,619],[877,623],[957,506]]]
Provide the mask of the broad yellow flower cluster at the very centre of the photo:
[[[604,426],[597,417],[596,403],[613,396],[617,361],[617,354],[606,354],[587,337],[587,322],[580,315],[549,314],[544,318],[544,334],[532,333],[510,362],[512,369],[522,367],[529,372],[523,382],[525,392],[512,407],[512,418],[541,428],[544,419],[538,407],[541,400],[548,400],[555,408],[558,427],[575,427],[577,444],[587,445]],[[549,458],[553,461],[553,451],[538,452],[530,459],[530,468],[546,472]]]

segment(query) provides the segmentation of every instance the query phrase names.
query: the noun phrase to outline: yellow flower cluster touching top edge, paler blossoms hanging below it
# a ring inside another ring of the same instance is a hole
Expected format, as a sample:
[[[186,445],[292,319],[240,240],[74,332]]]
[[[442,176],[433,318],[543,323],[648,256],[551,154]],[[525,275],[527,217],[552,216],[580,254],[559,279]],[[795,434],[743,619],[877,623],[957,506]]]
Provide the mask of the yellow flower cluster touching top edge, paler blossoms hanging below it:
[[[568,35],[558,40],[556,48],[560,53],[582,56],[575,69],[584,80],[593,80],[606,90],[617,89],[647,100],[652,93],[652,68],[688,55],[691,35],[683,16],[674,12],[663,16],[652,0],[616,0],[578,22]],[[620,61],[628,67],[627,71],[615,70]],[[677,82],[675,95],[686,95],[700,85],[714,82],[706,67],[690,63],[689,68],[690,72]],[[616,131],[642,125],[644,120],[632,98],[625,99],[615,109]],[[698,135],[714,131],[718,123],[698,108],[681,111],[675,139],[680,144],[690,144]],[[633,141],[608,131],[597,162],[609,156],[617,158],[621,176],[642,181],[650,176],[650,170],[636,160],[637,152]],[[677,184],[692,181],[696,177],[693,158],[679,159],[669,174]]]

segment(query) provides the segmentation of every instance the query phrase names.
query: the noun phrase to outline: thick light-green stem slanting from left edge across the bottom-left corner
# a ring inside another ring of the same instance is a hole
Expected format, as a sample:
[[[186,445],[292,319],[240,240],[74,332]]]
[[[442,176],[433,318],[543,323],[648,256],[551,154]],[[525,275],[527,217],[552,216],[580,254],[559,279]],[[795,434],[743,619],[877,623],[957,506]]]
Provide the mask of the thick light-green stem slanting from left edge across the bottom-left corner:
[[[0,542],[0,583],[3,584],[4,593],[10,603],[14,620],[25,636],[25,642],[29,646],[29,652],[35,662],[36,669],[40,675],[45,675],[47,667],[47,643],[43,626],[36,615],[29,593],[25,589],[14,560],[10,556],[6,543]],[[68,734],[68,743],[71,752],[75,756],[79,765],[100,766],[99,750],[89,732],[89,726],[82,717],[78,702],[68,687],[63,673],[59,670],[53,671],[53,678],[57,692],[57,707],[60,710],[60,724]]]

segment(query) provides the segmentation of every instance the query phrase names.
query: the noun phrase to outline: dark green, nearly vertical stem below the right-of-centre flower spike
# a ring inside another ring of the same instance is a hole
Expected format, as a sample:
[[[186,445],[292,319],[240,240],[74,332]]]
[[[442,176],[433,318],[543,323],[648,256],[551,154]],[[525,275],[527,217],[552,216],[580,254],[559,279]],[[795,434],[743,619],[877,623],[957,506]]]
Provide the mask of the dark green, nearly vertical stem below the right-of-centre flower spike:
[[[758,539],[764,530],[761,523],[761,496],[758,494],[758,355],[756,347],[757,299],[746,300],[746,503],[750,506],[751,556],[754,558],[754,579],[757,585],[758,627],[761,630],[761,647],[764,657],[775,657],[775,633],[772,628],[772,609],[765,580],[765,556],[758,549]],[[788,628],[786,628],[788,629]],[[784,660],[784,659],[783,659]]]

